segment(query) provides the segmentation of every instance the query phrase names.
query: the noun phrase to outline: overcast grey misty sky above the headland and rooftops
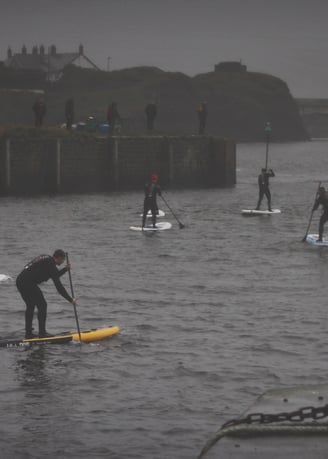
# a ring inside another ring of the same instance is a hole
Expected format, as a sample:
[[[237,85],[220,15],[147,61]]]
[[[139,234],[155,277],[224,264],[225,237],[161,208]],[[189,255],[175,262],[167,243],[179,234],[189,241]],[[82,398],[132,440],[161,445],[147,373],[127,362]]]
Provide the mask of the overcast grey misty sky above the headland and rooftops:
[[[139,65],[196,75],[222,60],[328,98],[328,0],[0,0],[7,48],[51,44],[102,69]]]

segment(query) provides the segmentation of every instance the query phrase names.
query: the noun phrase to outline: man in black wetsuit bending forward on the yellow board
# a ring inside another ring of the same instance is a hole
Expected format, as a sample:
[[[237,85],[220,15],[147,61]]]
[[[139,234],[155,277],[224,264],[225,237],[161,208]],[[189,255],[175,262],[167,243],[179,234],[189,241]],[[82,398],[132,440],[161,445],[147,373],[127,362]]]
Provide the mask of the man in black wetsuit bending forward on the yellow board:
[[[35,306],[38,309],[38,322],[39,322],[39,337],[44,338],[50,336],[46,332],[46,318],[47,318],[47,302],[43,296],[42,291],[38,287],[42,282],[49,279],[53,280],[57,291],[67,301],[76,304],[75,298],[72,298],[67,292],[65,287],[60,282],[60,276],[65,274],[70,265],[67,264],[65,268],[58,270],[56,266],[60,266],[65,261],[65,252],[63,250],[56,250],[53,256],[39,255],[28,263],[23,271],[17,276],[16,285],[19,293],[26,304],[25,311],[25,338],[35,338],[32,333],[32,322]]]

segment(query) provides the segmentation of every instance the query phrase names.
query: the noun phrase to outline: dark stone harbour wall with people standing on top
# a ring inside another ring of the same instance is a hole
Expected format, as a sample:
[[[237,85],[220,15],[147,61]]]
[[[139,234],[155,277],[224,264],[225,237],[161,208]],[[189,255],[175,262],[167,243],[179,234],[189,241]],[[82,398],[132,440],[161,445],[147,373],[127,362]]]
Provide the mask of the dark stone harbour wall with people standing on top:
[[[0,140],[1,195],[140,190],[152,173],[165,188],[234,186],[235,143],[206,136]]]

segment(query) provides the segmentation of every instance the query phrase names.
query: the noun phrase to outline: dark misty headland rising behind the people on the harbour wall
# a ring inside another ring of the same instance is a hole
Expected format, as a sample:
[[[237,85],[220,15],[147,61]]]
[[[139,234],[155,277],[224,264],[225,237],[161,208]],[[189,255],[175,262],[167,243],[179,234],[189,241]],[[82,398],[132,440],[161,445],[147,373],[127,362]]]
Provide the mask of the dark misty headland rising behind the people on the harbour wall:
[[[0,123],[32,124],[31,106],[37,96],[0,89]],[[207,102],[206,133],[237,141],[263,141],[264,126],[272,125],[272,139],[305,140],[307,133],[287,85],[270,75],[215,71],[193,78],[154,67],[104,72],[69,66],[63,78],[47,86],[47,125],[64,122],[64,103],[75,100],[76,120],[95,116],[105,120],[107,106],[117,102],[125,120],[124,132],[145,132],[145,105],[155,100],[156,132],[197,134],[196,109]]]

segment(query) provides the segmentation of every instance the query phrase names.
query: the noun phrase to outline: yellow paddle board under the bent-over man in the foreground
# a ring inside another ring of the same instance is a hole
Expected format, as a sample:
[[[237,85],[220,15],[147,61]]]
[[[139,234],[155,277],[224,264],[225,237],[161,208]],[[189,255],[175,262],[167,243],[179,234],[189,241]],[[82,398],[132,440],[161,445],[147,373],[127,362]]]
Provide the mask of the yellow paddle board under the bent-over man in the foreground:
[[[117,326],[84,330],[81,331],[81,340],[83,343],[92,343],[114,336],[119,332],[120,328]],[[80,341],[79,334],[76,331],[62,332],[58,333],[58,335],[47,336],[46,338],[2,339],[0,340],[0,347],[22,347],[34,344],[66,344],[71,341]]]

